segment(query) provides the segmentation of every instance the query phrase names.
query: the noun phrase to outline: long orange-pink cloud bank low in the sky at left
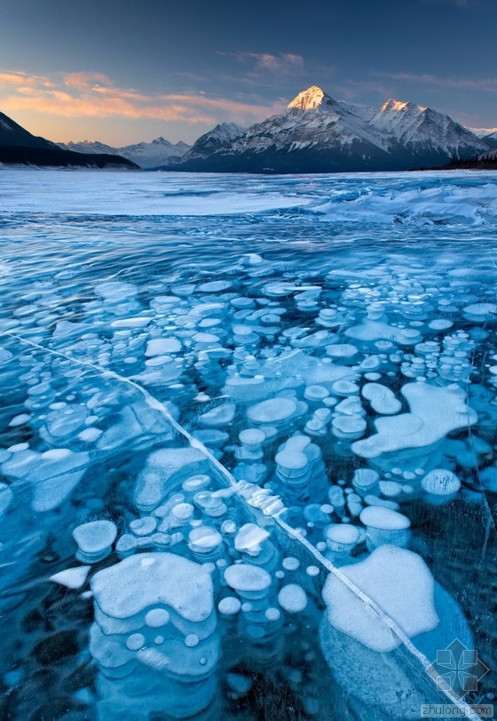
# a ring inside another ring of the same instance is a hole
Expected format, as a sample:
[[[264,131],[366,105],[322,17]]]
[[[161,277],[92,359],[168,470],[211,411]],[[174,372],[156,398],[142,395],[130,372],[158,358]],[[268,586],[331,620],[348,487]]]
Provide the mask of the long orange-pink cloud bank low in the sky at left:
[[[213,98],[204,92],[140,92],[89,72],[35,76],[22,70],[0,71],[0,97],[7,114],[25,110],[65,118],[152,118],[188,124],[215,124],[224,119],[250,124],[279,108]]]

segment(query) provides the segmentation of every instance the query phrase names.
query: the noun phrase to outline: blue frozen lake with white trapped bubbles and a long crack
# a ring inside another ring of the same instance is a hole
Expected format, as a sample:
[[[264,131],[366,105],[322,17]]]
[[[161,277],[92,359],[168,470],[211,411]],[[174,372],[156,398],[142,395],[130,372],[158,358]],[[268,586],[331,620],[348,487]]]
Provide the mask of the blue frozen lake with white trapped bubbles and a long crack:
[[[495,701],[495,173],[0,168],[0,234],[5,718]]]

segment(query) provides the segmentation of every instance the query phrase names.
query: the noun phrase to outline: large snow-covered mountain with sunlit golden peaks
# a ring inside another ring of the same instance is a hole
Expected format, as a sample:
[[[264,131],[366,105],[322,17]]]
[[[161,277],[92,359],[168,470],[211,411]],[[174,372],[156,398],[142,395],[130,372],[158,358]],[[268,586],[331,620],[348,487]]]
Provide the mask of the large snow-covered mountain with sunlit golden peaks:
[[[398,100],[366,108],[334,100],[315,85],[299,92],[281,115],[209,142],[217,128],[197,140],[177,170],[409,170],[444,165],[454,156],[474,157],[490,147],[430,108]]]

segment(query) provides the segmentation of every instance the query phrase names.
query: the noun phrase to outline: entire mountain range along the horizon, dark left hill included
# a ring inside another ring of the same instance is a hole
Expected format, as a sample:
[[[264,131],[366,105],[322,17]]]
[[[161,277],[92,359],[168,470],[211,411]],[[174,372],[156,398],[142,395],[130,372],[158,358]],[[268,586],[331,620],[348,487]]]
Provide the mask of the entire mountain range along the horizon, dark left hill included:
[[[218,124],[193,146],[162,137],[123,148],[88,140],[55,145],[0,113],[4,163],[16,162],[4,160],[10,153],[31,158],[18,162],[34,164],[185,172],[406,171],[469,160],[478,164],[478,156],[488,166],[494,158],[485,154],[493,148],[497,128],[464,128],[435,110],[398,100],[387,100],[381,108],[353,105],[334,100],[316,85],[299,92],[280,115],[249,128]],[[53,162],[36,163],[36,154]]]

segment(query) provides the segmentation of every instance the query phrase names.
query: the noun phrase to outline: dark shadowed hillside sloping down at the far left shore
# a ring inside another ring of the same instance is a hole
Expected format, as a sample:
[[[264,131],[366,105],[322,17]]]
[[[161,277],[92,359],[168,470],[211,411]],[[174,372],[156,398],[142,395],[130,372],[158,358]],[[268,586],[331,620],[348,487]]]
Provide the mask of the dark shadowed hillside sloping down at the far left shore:
[[[138,166],[114,154],[89,157],[59,148],[50,140],[32,135],[10,117],[0,113],[0,164],[42,165],[52,167],[132,168]]]

